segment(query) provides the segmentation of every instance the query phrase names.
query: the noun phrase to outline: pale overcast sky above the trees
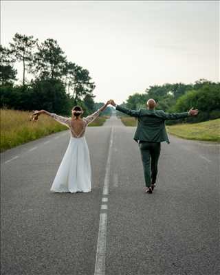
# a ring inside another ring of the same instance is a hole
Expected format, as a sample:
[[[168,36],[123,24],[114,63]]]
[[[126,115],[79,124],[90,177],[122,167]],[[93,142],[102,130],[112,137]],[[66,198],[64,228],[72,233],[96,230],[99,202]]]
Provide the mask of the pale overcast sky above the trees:
[[[122,103],[149,85],[219,81],[218,1],[1,1],[1,44],[16,32],[56,39],[89,70],[96,102]]]

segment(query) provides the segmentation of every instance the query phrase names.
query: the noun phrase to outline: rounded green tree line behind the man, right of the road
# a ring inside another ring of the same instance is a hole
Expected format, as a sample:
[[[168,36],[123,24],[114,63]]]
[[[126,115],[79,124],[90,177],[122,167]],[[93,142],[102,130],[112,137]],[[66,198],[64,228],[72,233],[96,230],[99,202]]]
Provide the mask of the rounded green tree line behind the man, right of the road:
[[[199,109],[196,118],[187,118],[185,122],[201,122],[220,118],[220,83],[206,79],[197,80],[193,84],[166,83],[148,87],[143,94],[135,93],[123,102],[129,109],[146,108],[149,98],[157,102],[156,109],[167,112],[182,112],[191,107]],[[168,124],[180,121],[169,121]]]

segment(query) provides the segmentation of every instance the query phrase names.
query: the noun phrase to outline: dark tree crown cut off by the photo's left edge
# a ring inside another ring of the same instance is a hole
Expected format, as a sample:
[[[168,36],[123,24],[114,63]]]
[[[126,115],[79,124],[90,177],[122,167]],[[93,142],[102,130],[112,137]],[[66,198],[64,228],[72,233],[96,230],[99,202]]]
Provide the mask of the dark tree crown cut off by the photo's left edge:
[[[0,63],[0,84],[12,85],[16,79],[17,69],[13,68],[14,58],[10,50],[0,45],[1,63]]]

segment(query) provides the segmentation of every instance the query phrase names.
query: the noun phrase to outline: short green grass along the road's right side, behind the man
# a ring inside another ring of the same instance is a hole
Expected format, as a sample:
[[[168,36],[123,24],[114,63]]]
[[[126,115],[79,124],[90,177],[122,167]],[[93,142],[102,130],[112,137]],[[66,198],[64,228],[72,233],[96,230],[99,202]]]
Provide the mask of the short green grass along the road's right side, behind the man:
[[[135,118],[121,117],[125,126],[137,126]],[[186,140],[220,142],[220,118],[199,123],[166,126],[168,133]]]

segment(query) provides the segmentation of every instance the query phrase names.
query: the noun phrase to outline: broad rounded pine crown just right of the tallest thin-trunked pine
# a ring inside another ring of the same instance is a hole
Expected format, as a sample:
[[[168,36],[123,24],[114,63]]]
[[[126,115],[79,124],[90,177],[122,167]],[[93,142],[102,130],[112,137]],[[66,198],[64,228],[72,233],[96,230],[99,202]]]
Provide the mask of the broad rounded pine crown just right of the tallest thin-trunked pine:
[[[37,47],[38,51],[34,54],[33,73],[42,79],[61,79],[64,74],[66,57],[57,41],[47,39]]]

